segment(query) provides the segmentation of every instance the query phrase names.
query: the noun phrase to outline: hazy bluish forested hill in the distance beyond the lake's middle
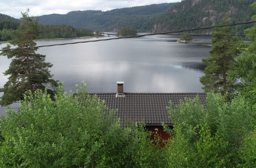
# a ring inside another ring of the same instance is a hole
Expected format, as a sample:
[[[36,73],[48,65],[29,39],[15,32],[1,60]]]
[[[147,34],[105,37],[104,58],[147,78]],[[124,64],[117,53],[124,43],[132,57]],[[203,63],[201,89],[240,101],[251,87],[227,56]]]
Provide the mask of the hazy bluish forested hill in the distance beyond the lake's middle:
[[[153,4],[111,11],[72,11],[67,14],[39,16],[40,24],[67,24],[99,31],[133,27],[138,32],[151,31],[160,14],[176,3]]]

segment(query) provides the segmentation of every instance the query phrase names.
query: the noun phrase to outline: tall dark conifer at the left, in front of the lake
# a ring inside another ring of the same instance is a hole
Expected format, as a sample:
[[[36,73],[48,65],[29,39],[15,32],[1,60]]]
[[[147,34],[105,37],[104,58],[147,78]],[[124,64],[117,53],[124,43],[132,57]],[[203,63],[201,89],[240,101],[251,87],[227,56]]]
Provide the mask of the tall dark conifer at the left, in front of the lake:
[[[36,43],[33,41],[38,34],[37,18],[32,19],[27,12],[22,13],[22,22],[20,23],[16,39],[10,44],[18,47],[34,47]],[[9,49],[7,45],[4,49]],[[4,92],[0,104],[2,106],[11,104],[15,101],[22,100],[24,94],[28,91],[37,89],[44,90],[48,87],[48,93],[52,94],[56,90],[57,82],[52,79],[48,68],[52,64],[45,62],[46,55],[38,54],[37,48],[27,48],[18,50],[6,50],[1,54],[6,55],[8,59],[12,59],[9,69],[4,72],[9,75],[8,81],[0,92]]]

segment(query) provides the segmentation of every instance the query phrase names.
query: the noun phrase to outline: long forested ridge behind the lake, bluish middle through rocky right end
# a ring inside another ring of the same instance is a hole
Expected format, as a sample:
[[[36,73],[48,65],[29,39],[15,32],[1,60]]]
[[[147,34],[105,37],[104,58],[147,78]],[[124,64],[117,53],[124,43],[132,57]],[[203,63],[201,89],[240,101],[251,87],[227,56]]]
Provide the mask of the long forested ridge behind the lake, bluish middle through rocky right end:
[[[231,23],[244,22],[255,13],[250,8],[253,0],[184,0],[180,3],[154,4],[111,11],[72,11],[65,15],[39,17],[41,24],[68,24],[104,32],[133,27],[137,32],[167,32],[217,25],[227,15]],[[234,27],[236,34],[251,25]],[[194,31],[210,34],[211,31]]]

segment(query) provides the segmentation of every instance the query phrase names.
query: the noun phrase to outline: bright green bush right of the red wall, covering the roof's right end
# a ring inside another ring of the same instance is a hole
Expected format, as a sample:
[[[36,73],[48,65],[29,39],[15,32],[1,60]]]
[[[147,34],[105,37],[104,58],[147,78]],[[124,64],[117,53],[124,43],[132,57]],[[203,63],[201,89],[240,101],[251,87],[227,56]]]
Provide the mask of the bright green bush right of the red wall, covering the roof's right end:
[[[198,98],[168,107],[176,133],[169,141],[169,165],[229,167],[242,163],[239,151],[255,124],[254,111],[242,96],[229,103],[225,99],[209,93],[205,108]]]

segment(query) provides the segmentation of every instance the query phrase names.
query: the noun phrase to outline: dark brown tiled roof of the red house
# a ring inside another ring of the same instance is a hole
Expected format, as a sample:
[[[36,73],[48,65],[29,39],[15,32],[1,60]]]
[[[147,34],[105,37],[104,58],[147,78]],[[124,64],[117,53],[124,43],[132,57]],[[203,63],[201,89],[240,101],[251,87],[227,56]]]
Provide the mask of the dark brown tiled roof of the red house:
[[[166,110],[169,101],[177,105],[185,97],[195,98],[198,95],[203,105],[206,104],[204,93],[124,93],[125,97],[116,97],[116,93],[90,94],[104,100],[109,109],[118,109],[117,116],[122,123],[144,121],[146,125],[172,125]]]

